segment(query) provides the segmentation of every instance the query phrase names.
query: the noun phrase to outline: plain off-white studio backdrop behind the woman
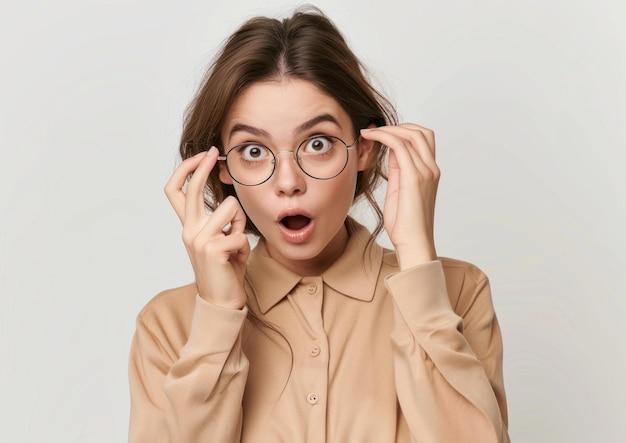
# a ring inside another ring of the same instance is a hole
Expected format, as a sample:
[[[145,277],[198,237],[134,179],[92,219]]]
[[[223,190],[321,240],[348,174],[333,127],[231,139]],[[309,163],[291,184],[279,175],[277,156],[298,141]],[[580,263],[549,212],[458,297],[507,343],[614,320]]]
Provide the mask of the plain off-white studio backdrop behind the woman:
[[[626,441],[624,3],[316,5],[437,134],[438,253],[491,278],[513,441]],[[1,3],[0,441],[126,440],[135,316],[193,279],[162,192],[184,108],[293,6]]]

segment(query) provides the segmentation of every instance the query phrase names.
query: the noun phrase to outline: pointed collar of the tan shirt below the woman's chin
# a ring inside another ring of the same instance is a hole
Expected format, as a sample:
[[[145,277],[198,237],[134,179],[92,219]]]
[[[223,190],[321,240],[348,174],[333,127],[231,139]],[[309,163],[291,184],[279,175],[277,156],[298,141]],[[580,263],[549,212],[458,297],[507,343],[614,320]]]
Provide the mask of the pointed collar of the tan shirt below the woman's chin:
[[[357,228],[350,235],[346,249],[339,259],[324,273],[322,280],[335,291],[362,301],[374,297],[376,281],[383,258],[383,248],[371,243],[369,231],[354,223]],[[263,239],[250,254],[246,279],[263,314],[283,299],[300,283],[302,276],[286,269],[269,256]]]

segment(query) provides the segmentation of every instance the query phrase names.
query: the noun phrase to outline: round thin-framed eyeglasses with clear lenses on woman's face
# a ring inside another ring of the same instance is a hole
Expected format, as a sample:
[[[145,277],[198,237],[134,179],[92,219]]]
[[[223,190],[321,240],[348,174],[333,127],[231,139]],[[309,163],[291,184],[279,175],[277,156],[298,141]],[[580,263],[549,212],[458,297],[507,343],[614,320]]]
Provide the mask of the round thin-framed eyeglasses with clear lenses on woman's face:
[[[296,163],[309,177],[330,180],[343,172],[348,164],[348,150],[354,147],[332,135],[314,135],[304,139],[293,152]],[[230,148],[225,156],[217,157],[226,162],[228,173],[237,183],[256,186],[270,179],[276,170],[278,154],[259,143],[242,143]]]

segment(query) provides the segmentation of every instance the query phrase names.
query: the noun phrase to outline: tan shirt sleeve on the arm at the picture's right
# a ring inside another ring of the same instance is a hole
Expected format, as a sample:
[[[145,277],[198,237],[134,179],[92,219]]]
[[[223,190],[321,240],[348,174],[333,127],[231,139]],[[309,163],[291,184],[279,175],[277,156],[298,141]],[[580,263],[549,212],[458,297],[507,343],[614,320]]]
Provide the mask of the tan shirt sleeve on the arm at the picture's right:
[[[502,339],[488,280],[468,266],[451,274],[450,294],[440,261],[385,281],[403,415],[414,441],[508,442]]]

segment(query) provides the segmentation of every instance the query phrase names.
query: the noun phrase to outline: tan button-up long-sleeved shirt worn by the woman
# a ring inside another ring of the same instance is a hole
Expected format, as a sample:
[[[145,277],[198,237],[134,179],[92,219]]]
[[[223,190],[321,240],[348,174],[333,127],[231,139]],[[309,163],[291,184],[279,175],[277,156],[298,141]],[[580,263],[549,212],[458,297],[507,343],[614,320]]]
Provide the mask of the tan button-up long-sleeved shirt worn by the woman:
[[[509,441],[487,277],[451,259],[399,272],[368,238],[305,278],[259,242],[241,311],[194,284],[157,295],[131,349],[129,441]]]

